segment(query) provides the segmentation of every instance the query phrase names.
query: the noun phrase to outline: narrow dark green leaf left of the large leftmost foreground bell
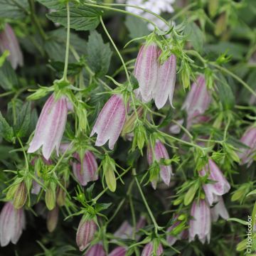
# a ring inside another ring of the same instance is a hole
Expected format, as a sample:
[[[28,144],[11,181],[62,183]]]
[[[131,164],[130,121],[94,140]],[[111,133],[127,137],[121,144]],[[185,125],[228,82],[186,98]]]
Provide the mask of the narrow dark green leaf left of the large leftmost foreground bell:
[[[31,102],[26,102],[21,108],[21,112],[17,114],[16,125],[14,131],[17,137],[26,136],[31,122]]]

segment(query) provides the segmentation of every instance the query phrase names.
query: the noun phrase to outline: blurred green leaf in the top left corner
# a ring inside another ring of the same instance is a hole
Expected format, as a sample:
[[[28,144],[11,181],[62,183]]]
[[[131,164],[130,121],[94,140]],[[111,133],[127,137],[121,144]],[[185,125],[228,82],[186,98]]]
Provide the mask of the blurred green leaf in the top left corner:
[[[0,0],[0,18],[24,18],[26,10],[27,0]]]

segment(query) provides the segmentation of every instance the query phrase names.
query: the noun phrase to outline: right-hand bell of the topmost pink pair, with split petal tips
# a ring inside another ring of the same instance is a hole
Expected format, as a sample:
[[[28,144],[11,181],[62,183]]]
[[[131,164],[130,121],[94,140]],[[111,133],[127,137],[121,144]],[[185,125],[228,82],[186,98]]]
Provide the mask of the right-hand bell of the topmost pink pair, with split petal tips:
[[[176,56],[172,54],[162,65],[159,65],[156,87],[154,89],[154,102],[158,109],[166,104],[169,97],[171,107],[176,81]]]

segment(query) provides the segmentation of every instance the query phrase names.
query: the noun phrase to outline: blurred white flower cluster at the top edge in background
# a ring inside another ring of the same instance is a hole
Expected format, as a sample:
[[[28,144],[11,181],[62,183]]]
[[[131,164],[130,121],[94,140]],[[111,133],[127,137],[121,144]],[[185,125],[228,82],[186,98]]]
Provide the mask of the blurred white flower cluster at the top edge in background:
[[[171,14],[174,12],[174,8],[173,6],[171,6],[171,4],[174,4],[175,0],[117,0],[117,2],[120,4],[139,6],[149,11],[152,11],[155,14],[161,15],[161,13]],[[149,19],[149,21],[154,22],[156,26],[158,26],[163,31],[168,29],[166,23],[164,23],[164,21],[161,21],[161,19],[157,18],[153,14],[149,14],[148,12],[141,9],[129,6],[126,7],[126,10],[133,14],[137,14]],[[151,23],[148,24],[148,28],[151,31],[154,30],[154,26]]]

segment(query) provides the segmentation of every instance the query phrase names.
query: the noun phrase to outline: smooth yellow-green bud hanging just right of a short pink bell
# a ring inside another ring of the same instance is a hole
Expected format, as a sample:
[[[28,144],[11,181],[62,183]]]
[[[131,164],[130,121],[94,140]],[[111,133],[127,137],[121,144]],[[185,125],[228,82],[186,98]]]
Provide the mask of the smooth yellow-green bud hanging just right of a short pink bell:
[[[110,191],[114,192],[117,188],[117,181],[114,176],[114,171],[116,171],[114,160],[110,156],[106,155],[105,159],[102,161],[103,175],[107,183],[107,187]]]

